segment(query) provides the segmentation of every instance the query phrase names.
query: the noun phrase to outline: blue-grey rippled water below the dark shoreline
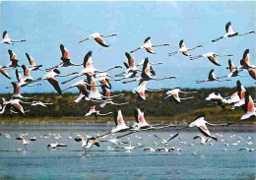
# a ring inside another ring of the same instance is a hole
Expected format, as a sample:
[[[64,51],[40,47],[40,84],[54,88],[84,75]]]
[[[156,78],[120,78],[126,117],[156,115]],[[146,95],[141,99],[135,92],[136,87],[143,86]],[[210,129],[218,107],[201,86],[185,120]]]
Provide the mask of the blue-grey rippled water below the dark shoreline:
[[[175,148],[169,152],[150,152],[144,151],[144,148],[127,152],[112,147],[110,143],[100,143],[99,148],[94,147],[84,155],[81,144],[73,140],[77,134],[96,135],[110,129],[109,125],[2,124],[0,179],[255,179],[255,151],[239,150],[244,147],[252,149],[256,145],[256,133],[241,131],[245,127],[210,127],[219,142],[210,141],[205,146],[200,145],[199,140],[193,141],[193,137],[200,134],[196,129],[182,131],[179,134],[181,139],[176,138],[170,142],[171,145],[166,146]],[[25,132],[29,138],[36,137],[36,141],[28,145],[27,150],[23,150],[22,142],[15,140]],[[6,133],[10,134],[10,139],[5,137]],[[51,134],[48,139],[40,138],[48,133]],[[58,141],[52,135],[57,133],[62,137]],[[175,133],[170,128],[166,131],[136,133],[122,140],[131,141],[132,145],[141,143],[145,147],[157,148],[163,145],[154,137],[155,134],[167,139]],[[69,139],[69,136],[73,139]],[[248,140],[249,136],[251,140]],[[231,145],[238,137],[242,137],[243,141],[237,146]],[[179,145],[180,141],[186,142],[186,145]],[[225,141],[228,147],[224,146]],[[246,145],[249,141],[253,145]],[[68,147],[47,150],[49,143],[56,142]],[[154,142],[158,145],[154,145]],[[190,146],[192,143],[194,147]],[[214,145],[210,146],[210,143]],[[122,146],[128,145],[116,147]]]

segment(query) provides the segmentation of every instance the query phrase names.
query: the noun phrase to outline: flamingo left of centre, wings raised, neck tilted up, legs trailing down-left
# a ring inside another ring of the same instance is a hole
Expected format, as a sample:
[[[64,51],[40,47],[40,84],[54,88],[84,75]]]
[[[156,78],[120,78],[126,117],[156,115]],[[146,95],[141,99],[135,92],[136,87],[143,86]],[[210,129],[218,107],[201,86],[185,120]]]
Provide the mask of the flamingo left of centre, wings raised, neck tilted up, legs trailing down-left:
[[[65,81],[65,82],[62,82],[62,84],[66,84],[76,78],[79,78],[81,76],[84,76],[84,75],[90,75],[90,76],[94,76],[95,73],[105,73],[105,72],[108,72],[112,69],[116,69],[116,68],[122,68],[121,66],[114,66],[112,68],[109,68],[105,71],[98,71],[96,70],[96,68],[94,68],[93,66],[93,59],[92,59],[92,54],[93,54],[93,51],[89,51],[86,55],[85,55],[85,58],[84,58],[84,69],[81,71],[80,75],[77,75],[75,77],[73,77],[72,79],[68,80],[68,81]],[[76,74],[78,74],[78,72],[76,72]]]

